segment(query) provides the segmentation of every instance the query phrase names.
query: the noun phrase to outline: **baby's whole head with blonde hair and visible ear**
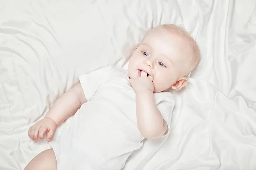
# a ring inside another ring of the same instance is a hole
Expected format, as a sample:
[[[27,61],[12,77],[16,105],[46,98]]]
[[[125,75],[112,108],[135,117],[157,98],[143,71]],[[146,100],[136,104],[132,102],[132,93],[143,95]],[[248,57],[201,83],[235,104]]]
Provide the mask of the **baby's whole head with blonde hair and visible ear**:
[[[198,45],[178,26],[165,24],[152,28],[131,54],[128,74],[131,78],[141,71],[153,77],[154,92],[169,88],[180,90],[187,75],[200,58]]]

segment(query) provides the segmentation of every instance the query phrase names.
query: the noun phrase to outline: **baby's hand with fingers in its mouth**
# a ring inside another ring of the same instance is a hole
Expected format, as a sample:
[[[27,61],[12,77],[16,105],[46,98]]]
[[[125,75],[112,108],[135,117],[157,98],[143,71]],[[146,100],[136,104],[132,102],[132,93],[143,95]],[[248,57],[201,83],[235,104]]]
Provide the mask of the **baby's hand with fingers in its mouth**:
[[[147,73],[141,71],[141,76],[136,77],[135,79],[130,79],[130,83],[134,92],[141,92],[145,90],[154,91],[153,77],[147,76]]]

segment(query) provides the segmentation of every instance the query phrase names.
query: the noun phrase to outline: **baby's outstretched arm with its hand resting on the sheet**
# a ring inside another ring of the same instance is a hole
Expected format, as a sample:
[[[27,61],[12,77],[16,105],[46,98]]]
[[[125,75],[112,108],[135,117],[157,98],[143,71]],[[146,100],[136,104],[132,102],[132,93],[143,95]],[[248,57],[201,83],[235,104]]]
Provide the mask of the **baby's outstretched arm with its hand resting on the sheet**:
[[[56,100],[44,119],[29,128],[29,138],[35,141],[38,138],[43,140],[44,133],[47,133],[47,141],[49,142],[56,127],[73,113],[76,113],[85,102],[87,102],[87,99],[84,96],[81,84],[78,83]]]

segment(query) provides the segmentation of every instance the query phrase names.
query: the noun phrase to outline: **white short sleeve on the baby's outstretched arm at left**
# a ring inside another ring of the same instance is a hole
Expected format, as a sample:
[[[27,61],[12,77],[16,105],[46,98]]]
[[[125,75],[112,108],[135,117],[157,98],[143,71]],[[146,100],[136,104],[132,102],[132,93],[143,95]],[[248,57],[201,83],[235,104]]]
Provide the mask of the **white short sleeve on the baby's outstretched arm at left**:
[[[100,85],[108,82],[115,72],[115,67],[108,66],[88,74],[79,76],[79,81],[84,91],[85,98],[89,101]]]

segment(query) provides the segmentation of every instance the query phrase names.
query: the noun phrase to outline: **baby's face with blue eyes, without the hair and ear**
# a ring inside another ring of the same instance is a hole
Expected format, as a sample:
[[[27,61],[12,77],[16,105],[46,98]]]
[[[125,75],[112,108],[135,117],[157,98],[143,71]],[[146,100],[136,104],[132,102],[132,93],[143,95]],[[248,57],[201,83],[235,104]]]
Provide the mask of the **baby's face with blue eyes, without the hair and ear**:
[[[163,28],[152,29],[131,55],[129,76],[136,78],[143,70],[153,77],[154,92],[166,91],[184,74],[185,44]]]

